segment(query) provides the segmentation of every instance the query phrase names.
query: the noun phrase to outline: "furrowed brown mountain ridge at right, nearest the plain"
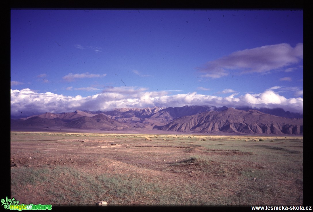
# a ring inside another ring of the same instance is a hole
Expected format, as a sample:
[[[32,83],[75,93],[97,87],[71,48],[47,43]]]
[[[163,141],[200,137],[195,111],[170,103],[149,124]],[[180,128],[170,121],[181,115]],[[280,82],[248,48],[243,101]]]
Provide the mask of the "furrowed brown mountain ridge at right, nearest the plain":
[[[225,132],[243,134],[303,134],[303,119],[288,119],[256,110],[228,108],[183,116],[159,127],[165,131]]]

